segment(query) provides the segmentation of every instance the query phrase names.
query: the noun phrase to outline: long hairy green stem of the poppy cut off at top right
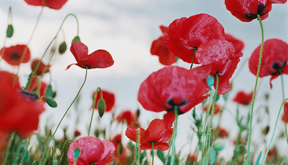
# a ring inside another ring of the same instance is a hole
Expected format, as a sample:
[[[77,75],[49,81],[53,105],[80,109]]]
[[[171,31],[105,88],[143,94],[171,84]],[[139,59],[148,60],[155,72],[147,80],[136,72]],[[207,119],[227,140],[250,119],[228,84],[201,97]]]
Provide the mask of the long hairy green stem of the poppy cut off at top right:
[[[258,77],[260,72],[260,66],[261,66],[261,59],[262,59],[262,52],[263,52],[263,44],[264,44],[264,30],[262,21],[260,18],[260,15],[257,15],[261,27],[261,35],[262,35],[262,41],[261,41],[261,48],[260,48],[260,54],[259,54],[259,64],[257,69],[257,75],[255,80],[255,87],[252,97],[252,103],[251,103],[251,111],[250,111],[250,124],[249,124],[249,133],[248,133],[248,148],[247,148],[247,165],[249,165],[249,158],[250,158],[250,144],[251,144],[251,133],[252,133],[252,119],[253,119],[253,108],[254,108],[254,101],[256,96],[256,90],[257,90],[257,84],[258,84]]]

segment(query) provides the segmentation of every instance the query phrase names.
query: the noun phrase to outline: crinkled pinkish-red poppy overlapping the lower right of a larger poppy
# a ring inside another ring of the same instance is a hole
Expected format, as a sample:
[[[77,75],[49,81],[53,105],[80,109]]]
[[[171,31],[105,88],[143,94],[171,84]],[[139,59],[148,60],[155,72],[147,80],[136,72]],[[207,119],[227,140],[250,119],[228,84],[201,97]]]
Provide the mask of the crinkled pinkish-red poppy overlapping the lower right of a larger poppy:
[[[231,42],[222,39],[213,39],[202,44],[196,52],[196,58],[202,66],[198,66],[192,70],[198,73],[203,79],[209,75],[215,77],[218,75],[219,95],[230,91],[229,79],[232,77],[237,64],[240,61],[242,53],[235,55],[235,49]],[[216,88],[216,79],[214,80],[214,88]]]

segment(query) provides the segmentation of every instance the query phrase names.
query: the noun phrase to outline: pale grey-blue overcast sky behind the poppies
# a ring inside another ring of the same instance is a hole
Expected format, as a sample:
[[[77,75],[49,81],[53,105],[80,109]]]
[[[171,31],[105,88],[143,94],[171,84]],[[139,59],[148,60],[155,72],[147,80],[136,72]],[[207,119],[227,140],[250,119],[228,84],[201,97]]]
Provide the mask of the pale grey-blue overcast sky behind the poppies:
[[[9,6],[13,12],[14,35],[7,40],[7,46],[16,44],[26,44],[28,41],[37,16],[41,7],[29,6],[24,1],[0,1],[0,42],[1,47],[6,34],[7,13]],[[45,7],[39,26],[34,38],[32,39],[29,48],[33,58],[40,58],[45,48],[48,46],[51,39],[55,36],[64,17],[73,13],[79,19],[81,42],[86,44],[89,53],[97,49],[105,49],[110,52],[115,61],[114,65],[107,69],[91,69],[88,70],[88,78],[81,92],[81,117],[80,125],[77,128],[85,135],[87,132],[88,119],[90,118],[90,106],[92,104],[91,94],[98,86],[102,89],[109,90],[115,93],[116,96],[116,114],[124,109],[136,110],[141,108],[142,116],[141,123],[144,128],[154,118],[162,118],[162,113],[148,112],[142,109],[137,102],[137,90],[143,80],[154,71],[162,68],[157,56],[151,56],[150,46],[154,39],[161,35],[159,25],[168,26],[173,20],[181,17],[189,17],[199,13],[207,13],[218,19],[223,25],[225,32],[233,34],[235,37],[242,39],[245,43],[243,57],[241,58],[238,67],[245,62],[244,59],[250,57],[253,50],[261,42],[261,31],[259,22],[253,20],[250,23],[244,23],[231,15],[227,11],[224,1],[68,1],[61,10],[53,10]],[[278,38],[285,42],[288,41],[288,5],[273,4],[272,11],[269,12],[269,17],[263,21],[265,29],[265,39]],[[46,111],[41,115],[41,126],[48,123],[55,128],[56,123],[61,119],[65,110],[75,97],[80,85],[85,76],[85,69],[77,66],[72,66],[69,70],[64,71],[67,65],[75,62],[75,58],[69,51],[70,42],[75,37],[77,32],[76,21],[74,18],[68,18],[64,23],[63,30],[66,37],[68,50],[64,55],[56,55],[52,60],[52,77],[53,88],[57,90],[56,101],[57,108],[46,108]],[[61,34],[62,35],[62,34]],[[63,38],[58,38],[58,43],[63,42]],[[181,60],[179,66],[189,68],[188,63]],[[230,93],[231,97],[235,96],[235,92],[244,90],[246,92],[254,89],[255,76],[249,72],[248,65],[243,64],[243,71],[240,72],[238,78],[233,84],[233,90]],[[4,61],[1,62],[1,70],[9,70],[15,72],[16,69],[9,66]],[[21,65],[20,77],[21,83],[26,83],[30,70],[30,64]],[[237,72],[237,70],[236,70]],[[281,81],[280,77],[273,81],[274,88],[269,88],[269,78],[266,77],[260,80],[262,82],[261,90],[258,91],[255,109],[265,104],[261,95],[270,93],[268,104],[270,108],[270,118],[264,115],[263,109],[254,113],[254,131],[252,134],[252,142],[257,142],[257,139],[262,136],[261,129],[267,124],[270,128],[274,127],[276,114],[281,104]],[[45,77],[49,80],[49,76]],[[287,75],[284,76],[285,96],[287,97]],[[223,99],[219,100],[219,104],[223,105]],[[228,109],[235,113],[236,105],[230,101]],[[74,107],[73,107],[74,108]],[[246,114],[249,111],[248,107],[241,107],[241,113]],[[201,107],[197,106],[197,112],[200,112]],[[109,114],[105,114],[104,118],[109,118]],[[188,112],[179,117],[177,147],[180,149],[183,142],[188,141],[192,131],[190,125],[192,121],[191,112]],[[226,111],[223,116],[224,120],[221,126],[230,131],[230,137],[226,140],[227,147],[221,152],[220,156],[230,158],[232,156],[231,147],[233,139],[235,139],[238,129],[231,115]],[[257,123],[257,118],[260,118],[261,123]],[[217,121],[217,117],[215,121]],[[75,120],[74,110],[71,109],[67,118],[63,121],[62,126],[73,125]],[[93,127],[96,127],[94,120]],[[72,132],[74,127],[70,128]],[[189,131],[187,131],[189,130]],[[283,131],[284,125],[279,121],[278,130]],[[118,130],[120,132],[120,130]],[[114,134],[118,133],[115,132]],[[267,135],[267,140],[270,140],[271,131]],[[279,134],[280,132],[277,131]],[[276,133],[276,137],[278,134]],[[195,135],[195,134],[194,134]],[[59,131],[56,137],[61,136]],[[126,139],[126,138],[124,138]],[[192,148],[197,144],[194,137]],[[284,154],[287,153],[287,145],[285,140],[274,141],[275,145],[281,148]],[[186,145],[188,146],[188,145]],[[185,146],[185,150],[188,147]],[[268,146],[262,145],[257,148],[257,153],[264,150]],[[285,147],[286,146],[286,147]]]

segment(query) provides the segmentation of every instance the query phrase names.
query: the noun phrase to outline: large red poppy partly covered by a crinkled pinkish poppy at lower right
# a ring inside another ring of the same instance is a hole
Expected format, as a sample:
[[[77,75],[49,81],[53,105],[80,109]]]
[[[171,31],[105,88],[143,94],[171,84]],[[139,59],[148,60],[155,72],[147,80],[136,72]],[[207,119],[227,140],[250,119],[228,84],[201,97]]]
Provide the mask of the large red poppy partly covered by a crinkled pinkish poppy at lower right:
[[[224,28],[218,20],[208,14],[192,15],[174,20],[169,25],[170,38],[165,39],[165,45],[185,62],[191,63],[194,48],[211,39],[225,39]],[[194,63],[198,64],[197,58]]]

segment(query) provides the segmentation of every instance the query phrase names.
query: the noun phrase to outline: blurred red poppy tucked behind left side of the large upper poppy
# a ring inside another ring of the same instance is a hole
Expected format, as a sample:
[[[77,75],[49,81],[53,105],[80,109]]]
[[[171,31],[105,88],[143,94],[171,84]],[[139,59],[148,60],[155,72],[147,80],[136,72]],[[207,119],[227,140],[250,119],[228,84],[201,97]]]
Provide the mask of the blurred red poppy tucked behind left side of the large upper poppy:
[[[176,56],[167,49],[164,43],[164,40],[169,38],[167,33],[168,27],[161,25],[160,29],[163,34],[152,42],[150,53],[159,56],[161,64],[170,66],[176,62]]]

